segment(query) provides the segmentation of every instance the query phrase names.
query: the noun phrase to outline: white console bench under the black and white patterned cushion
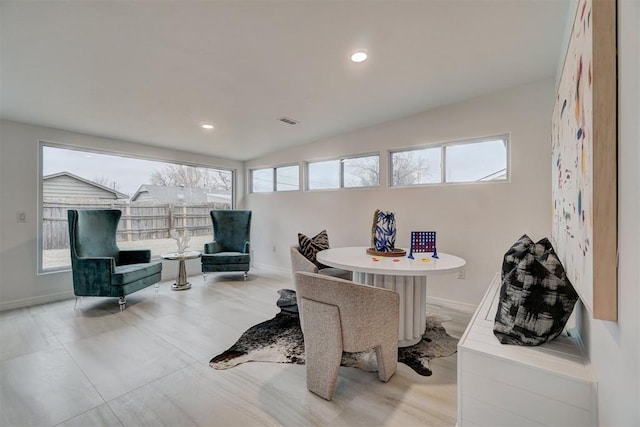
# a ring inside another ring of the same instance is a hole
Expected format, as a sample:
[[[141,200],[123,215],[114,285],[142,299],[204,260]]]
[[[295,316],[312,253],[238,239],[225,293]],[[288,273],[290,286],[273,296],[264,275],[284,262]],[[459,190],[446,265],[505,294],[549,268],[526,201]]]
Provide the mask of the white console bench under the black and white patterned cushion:
[[[499,296],[497,274],[458,343],[458,427],[597,426],[597,383],[577,340],[501,344]]]

